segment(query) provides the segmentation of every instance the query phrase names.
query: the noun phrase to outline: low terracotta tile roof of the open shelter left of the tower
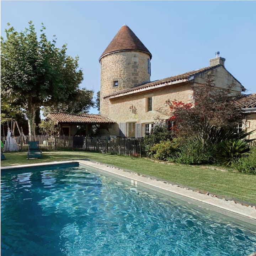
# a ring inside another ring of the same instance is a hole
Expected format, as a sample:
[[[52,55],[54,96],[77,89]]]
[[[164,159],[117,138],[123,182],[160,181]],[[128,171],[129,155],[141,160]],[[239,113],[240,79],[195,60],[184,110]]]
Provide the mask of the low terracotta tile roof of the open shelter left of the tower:
[[[55,123],[114,123],[99,114],[49,113],[46,118]]]

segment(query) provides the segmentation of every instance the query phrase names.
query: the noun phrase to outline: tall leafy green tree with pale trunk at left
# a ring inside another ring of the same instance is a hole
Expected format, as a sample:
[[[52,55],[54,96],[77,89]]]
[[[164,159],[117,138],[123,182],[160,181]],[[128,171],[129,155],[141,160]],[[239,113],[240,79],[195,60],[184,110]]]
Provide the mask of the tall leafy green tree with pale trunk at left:
[[[7,25],[6,38],[1,37],[1,89],[13,102],[21,100],[29,134],[35,135],[38,107],[69,102],[83,79],[82,71],[78,57],[66,54],[66,44],[57,48],[56,38],[48,41],[43,24],[39,39],[32,21],[22,32]]]

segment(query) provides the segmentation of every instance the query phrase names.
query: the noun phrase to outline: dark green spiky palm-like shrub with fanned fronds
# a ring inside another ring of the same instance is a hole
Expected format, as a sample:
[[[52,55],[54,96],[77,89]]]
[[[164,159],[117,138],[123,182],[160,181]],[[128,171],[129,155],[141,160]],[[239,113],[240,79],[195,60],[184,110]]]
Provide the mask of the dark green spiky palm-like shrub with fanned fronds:
[[[218,158],[226,165],[231,165],[235,158],[241,157],[250,150],[249,144],[241,139],[224,140],[218,145]]]

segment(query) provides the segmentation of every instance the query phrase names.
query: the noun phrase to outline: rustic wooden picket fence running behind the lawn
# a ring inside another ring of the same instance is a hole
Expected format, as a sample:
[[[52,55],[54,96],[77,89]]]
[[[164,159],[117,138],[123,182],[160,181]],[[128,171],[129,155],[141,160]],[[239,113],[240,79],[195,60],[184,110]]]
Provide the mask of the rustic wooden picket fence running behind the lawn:
[[[113,155],[142,156],[142,138],[123,137],[84,137],[84,136],[50,136],[36,135],[33,137],[15,136],[1,137],[4,152],[27,151],[29,141],[38,141],[43,150],[84,150]]]

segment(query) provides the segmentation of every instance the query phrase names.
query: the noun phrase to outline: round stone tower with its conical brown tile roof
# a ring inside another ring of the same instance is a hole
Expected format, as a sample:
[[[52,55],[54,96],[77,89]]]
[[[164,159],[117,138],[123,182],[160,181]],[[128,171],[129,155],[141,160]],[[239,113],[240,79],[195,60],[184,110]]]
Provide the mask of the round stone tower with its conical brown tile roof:
[[[109,100],[104,100],[105,96],[150,81],[151,58],[151,53],[139,38],[123,25],[99,59],[100,113],[103,116],[109,116]]]

